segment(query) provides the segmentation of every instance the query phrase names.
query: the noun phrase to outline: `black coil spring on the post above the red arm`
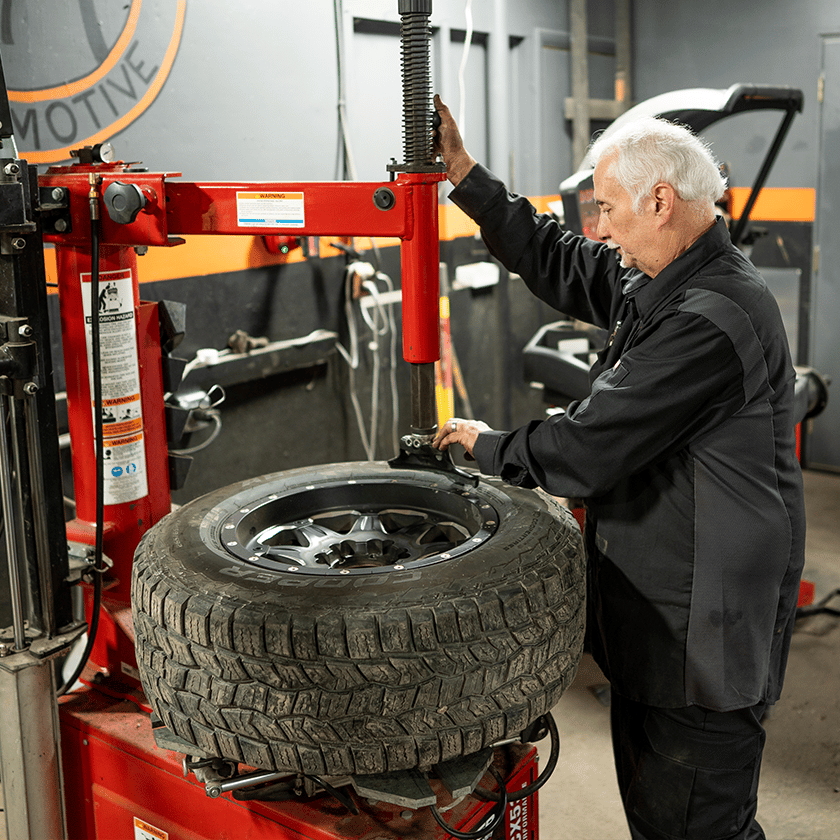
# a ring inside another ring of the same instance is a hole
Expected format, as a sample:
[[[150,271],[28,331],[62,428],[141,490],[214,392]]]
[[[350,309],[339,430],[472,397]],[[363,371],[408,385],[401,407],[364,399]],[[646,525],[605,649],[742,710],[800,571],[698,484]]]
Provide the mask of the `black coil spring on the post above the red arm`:
[[[407,165],[434,163],[432,151],[432,83],[429,52],[432,29],[428,15],[402,16],[403,149]]]

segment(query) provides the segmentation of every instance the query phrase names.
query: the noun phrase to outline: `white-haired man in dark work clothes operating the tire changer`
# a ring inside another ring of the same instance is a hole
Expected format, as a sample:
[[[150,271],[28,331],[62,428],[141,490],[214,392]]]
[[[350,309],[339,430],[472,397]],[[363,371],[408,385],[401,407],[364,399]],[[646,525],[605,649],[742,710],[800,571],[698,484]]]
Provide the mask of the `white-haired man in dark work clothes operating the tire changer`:
[[[560,312],[604,327],[591,393],[511,432],[450,420],[482,472],[586,501],[589,643],[612,685],[634,838],[764,837],[761,718],[782,687],[803,563],[794,371],[778,307],[732,246],[707,148],[660,120],[597,141],[600,242],[539,215],[464,149],[452,200]]]

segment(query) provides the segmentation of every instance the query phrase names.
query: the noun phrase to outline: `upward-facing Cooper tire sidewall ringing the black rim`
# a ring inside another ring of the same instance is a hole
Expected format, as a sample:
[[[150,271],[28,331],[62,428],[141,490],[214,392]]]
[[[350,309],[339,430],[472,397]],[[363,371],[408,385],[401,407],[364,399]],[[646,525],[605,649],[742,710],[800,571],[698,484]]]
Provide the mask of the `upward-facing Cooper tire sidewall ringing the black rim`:
[[[246,563],[225,550],[221,523],[236,509],[265,498],[267,494],[294,494],[337,481],[349,483],[407,482],[441,493],[463,493],[467,488],[446,475],[429,471],[395,470],[386,463],[334,464],[274,473],[239,482],[196,499],[171,513],[148,532],[138,546],[164,577],[194,592],[215,592],[223,587],[227,599],[241,603],[292,603],[301,609],[326,611],[335,602],[370,608],[387,599],[389,608],[420,606],[429,600],[458,595],[476,596],[495,588],[505,579],[525,571],[522,558],[532,569],[553,564],[553,552],[541,545],[540,535],[559,521],[570,532],[574,518],[550,497],[531,490],[502,485],[482,478],[469,487],[479,503],[497,514],[496,530],[483,543],[451,559],[404,570],[392,567],[375,573],[338,575],[291,574]],[[173,550],[175,548],[176,550]]]

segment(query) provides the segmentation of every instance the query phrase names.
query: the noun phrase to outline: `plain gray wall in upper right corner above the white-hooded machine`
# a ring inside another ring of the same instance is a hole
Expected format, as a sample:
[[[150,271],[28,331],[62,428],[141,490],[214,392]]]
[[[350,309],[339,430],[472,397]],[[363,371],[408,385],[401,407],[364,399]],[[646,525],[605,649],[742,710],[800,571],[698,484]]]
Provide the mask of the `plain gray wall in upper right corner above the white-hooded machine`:
[[[638,99],[682,87],[729,87],[736,82],[790,85],[805,93],[768,186],[816,187],[820,36],[840,31],[834,0],[634,0],[634,85]],[[772,119],[768,125],[772,125]],[[764,125],[726,130],[725,159],[748,183],[772,138]],[[724,139],[721,137],[720,142]]]

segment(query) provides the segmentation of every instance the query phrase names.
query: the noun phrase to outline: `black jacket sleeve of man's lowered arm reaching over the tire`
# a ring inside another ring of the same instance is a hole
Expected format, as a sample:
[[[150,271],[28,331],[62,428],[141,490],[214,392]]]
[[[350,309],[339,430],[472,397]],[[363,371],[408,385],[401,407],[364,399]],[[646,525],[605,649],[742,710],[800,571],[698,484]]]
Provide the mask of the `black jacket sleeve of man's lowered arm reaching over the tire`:
[[[685,447],[745,405],[732,342],[680,312],[627,351],[567,412],[513,432],[479,435],[482,472],[558,496],[593,497]]]

